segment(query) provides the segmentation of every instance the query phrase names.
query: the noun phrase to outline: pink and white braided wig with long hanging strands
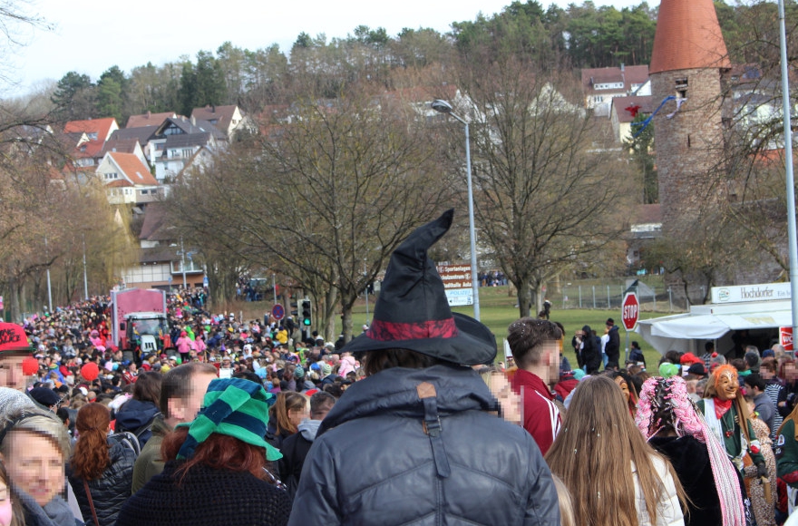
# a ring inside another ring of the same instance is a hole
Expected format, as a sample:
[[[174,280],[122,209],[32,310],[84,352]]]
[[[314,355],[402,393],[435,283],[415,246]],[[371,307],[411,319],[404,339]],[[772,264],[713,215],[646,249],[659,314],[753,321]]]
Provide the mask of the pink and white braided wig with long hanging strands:
[[[664,414],[660,413],[663,409]],[[662,416],[654,422],[657,414]],[[647,440],[663,427],[671,426],[677,436],[689,435],[705,443],[723,512],[723,523],[730,526],[745,525],[742,492],[735,466],[729,462],[724,445],[709,430],[704,417],[687,396],[686,383],[681,377],[648,378],[640,392],[635,423]]]

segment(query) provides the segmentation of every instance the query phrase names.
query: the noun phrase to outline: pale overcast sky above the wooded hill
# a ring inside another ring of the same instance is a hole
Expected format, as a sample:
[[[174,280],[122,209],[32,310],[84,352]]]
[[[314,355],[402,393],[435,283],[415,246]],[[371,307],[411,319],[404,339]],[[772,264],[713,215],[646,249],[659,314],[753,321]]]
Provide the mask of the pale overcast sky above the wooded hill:
[[[14,54],[0,54],[6,76],[17,83],[5,86],[5,96],[26,93],[37,83],[58,80],[69,71],[86,73],[96,81],[114,64],[130,73],[135,66],[172,62],[183,54],[193,59],[199,50],[215,52],[226,41],[250,50],[276,43],[287,52],[303,31],[312,36],[324,33],[328,39],[345,37],[359,24],[382,26],[392,36],[404,27],[446,32],[452,22],[473,20],[481,11],[492,15],[510,4],[510,0],[400,0],[395,4],[374,0],[20,1],[29,3],[29,11],[44,16],[54,30],[21,34],[25,45],[16,47]],[[569,4],[567,0],[555,3]],[[620,9],[639,5],[641,0],[594,3]],[[659,5],[659,1],[649,0],[648,5]]]

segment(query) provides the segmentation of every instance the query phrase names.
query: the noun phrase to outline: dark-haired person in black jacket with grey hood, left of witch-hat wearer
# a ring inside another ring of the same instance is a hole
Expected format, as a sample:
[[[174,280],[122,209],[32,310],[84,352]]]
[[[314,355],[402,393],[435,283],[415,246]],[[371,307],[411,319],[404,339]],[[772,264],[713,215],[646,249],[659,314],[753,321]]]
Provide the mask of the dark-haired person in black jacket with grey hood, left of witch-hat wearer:
[[[333,405],[336,404],[336,397],[319,391],[310,397],[310,418],[306,418],[297,426],[298,433],[288,436],[280,448],[283,458],[279,460],[280,480],[286,485],[286,490],[290,497],[297,493],[297,485],[302,474],[302,466],[305,465],[307,452],[316,440],[316,433]]]

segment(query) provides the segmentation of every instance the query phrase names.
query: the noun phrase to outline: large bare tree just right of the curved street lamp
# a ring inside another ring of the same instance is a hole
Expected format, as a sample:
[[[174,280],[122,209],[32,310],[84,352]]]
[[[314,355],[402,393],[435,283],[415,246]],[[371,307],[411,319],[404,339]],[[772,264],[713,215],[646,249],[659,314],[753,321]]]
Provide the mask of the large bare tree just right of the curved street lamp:
[[[474,60],[461,78],[480,238],[529,316],[548,279],[618,239],[636,191],[623,153],[581,109],[572,80],[538,75],[518,58]]]

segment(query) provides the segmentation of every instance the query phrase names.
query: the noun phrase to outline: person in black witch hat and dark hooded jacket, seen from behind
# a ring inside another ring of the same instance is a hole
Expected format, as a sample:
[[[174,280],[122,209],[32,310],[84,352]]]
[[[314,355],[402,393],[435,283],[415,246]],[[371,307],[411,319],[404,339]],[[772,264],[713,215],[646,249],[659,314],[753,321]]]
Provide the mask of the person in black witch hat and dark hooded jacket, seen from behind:
[[[366,377],[322,422],[290,526],[560,524],[538,446],[499,417],[496,398],[467,366],[490,364],[496,338],[452,313],[427,258],[452,220],[449,210],[394,251],[373,323],[344,347],[363,355]]]

